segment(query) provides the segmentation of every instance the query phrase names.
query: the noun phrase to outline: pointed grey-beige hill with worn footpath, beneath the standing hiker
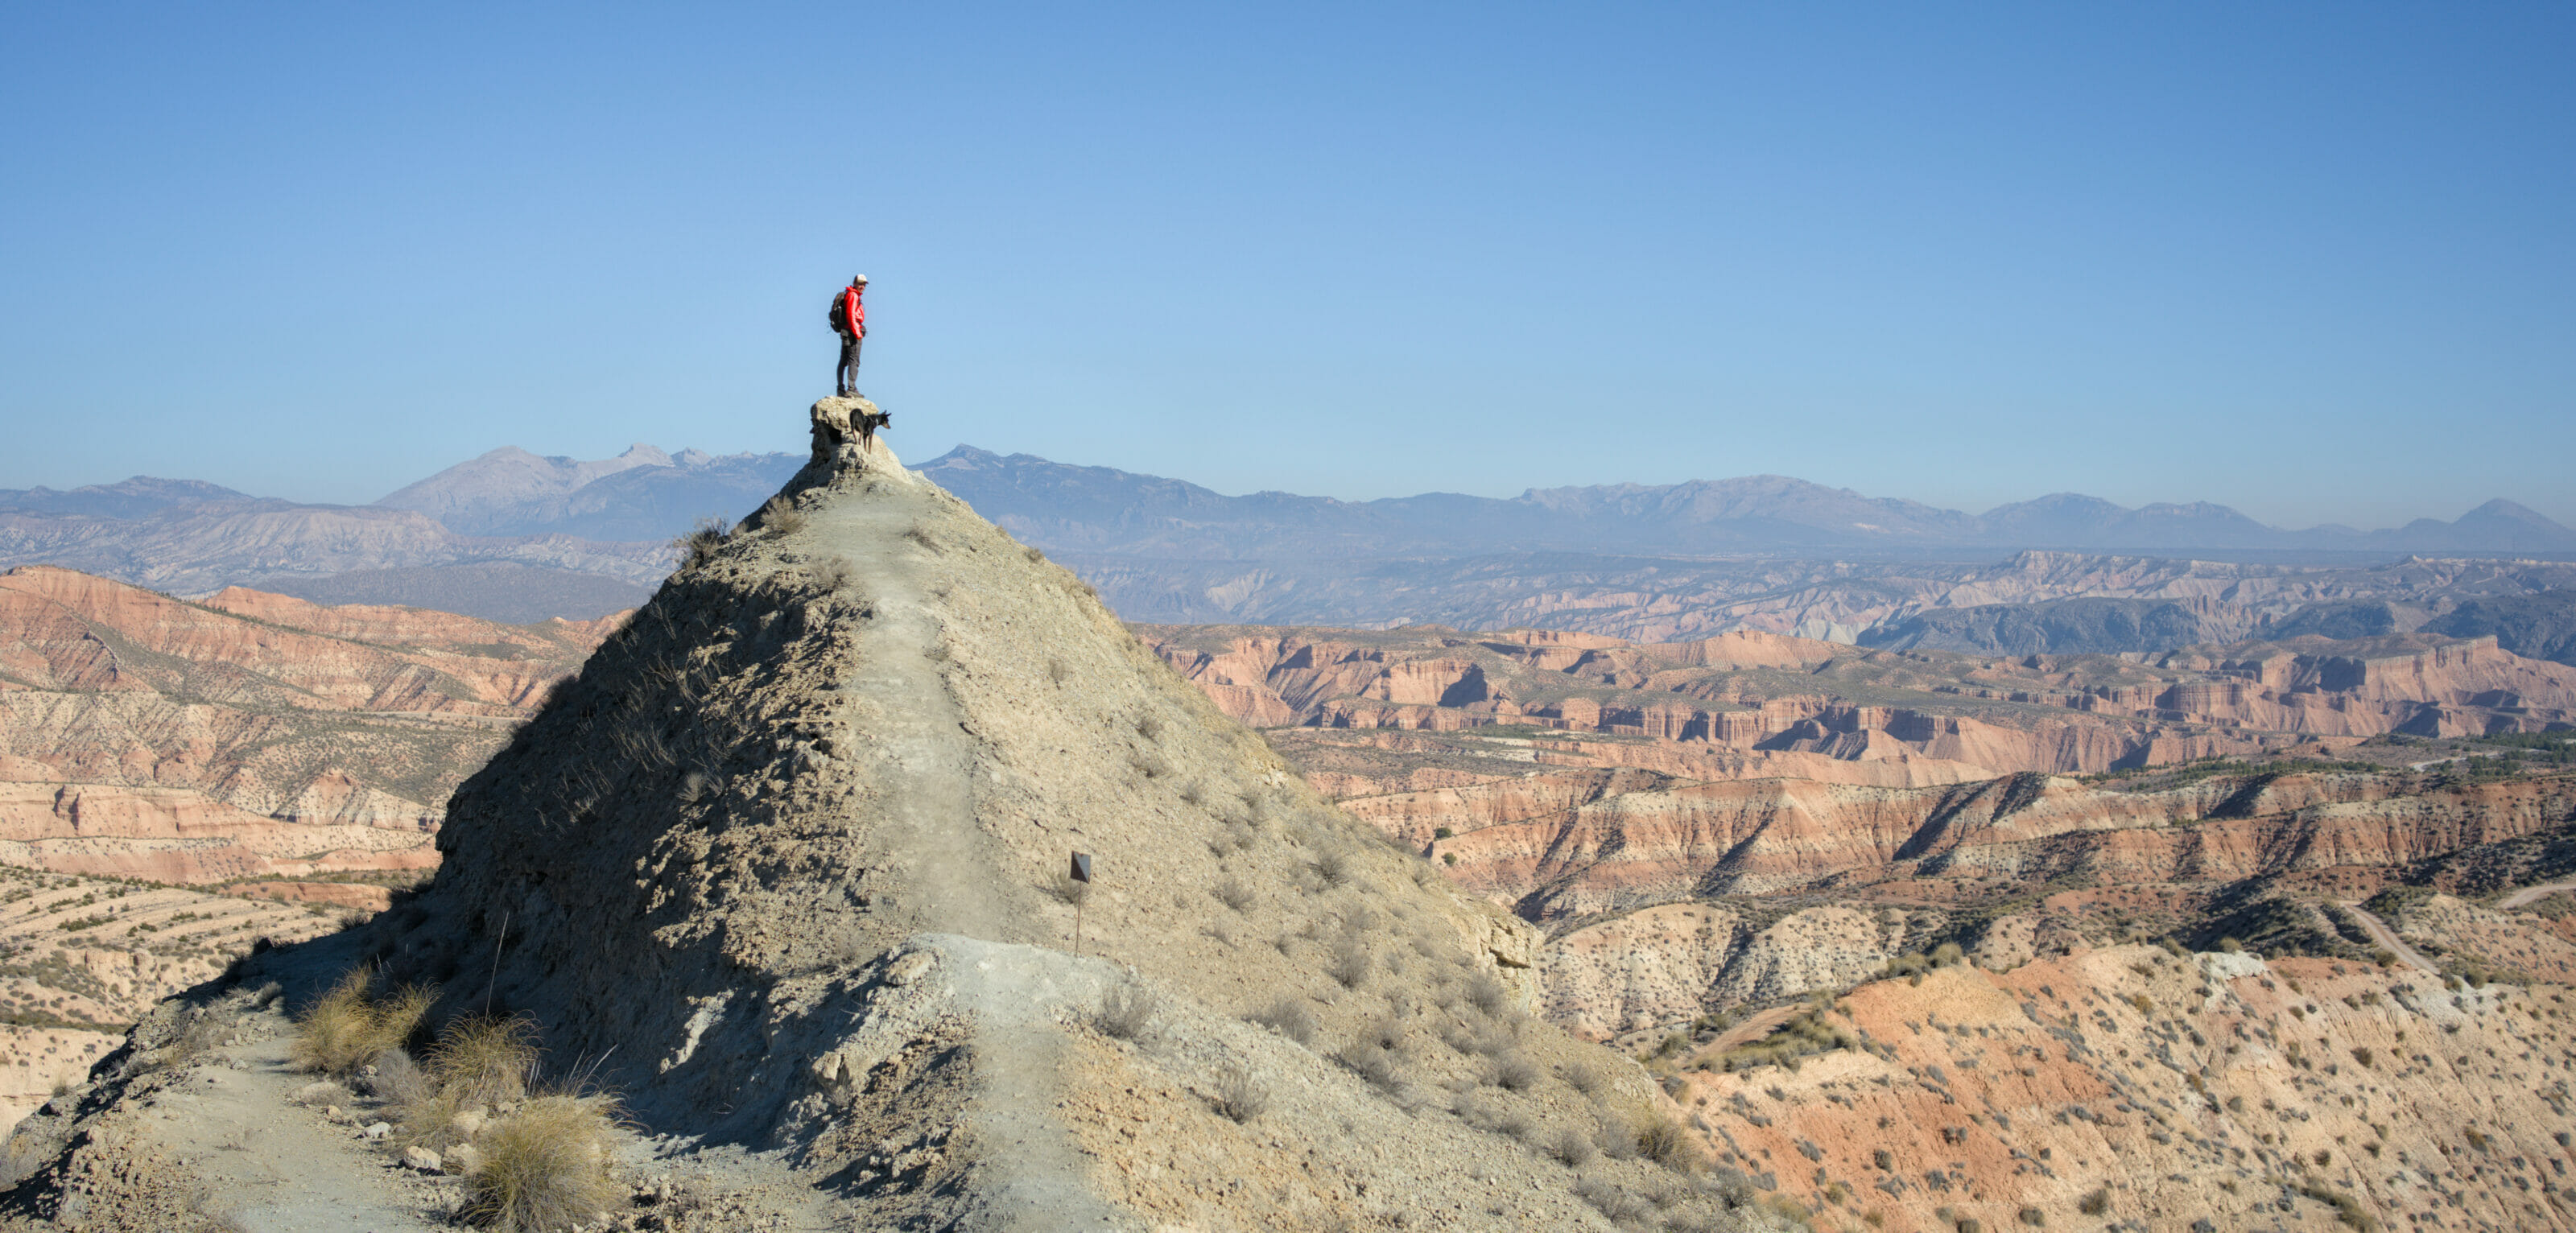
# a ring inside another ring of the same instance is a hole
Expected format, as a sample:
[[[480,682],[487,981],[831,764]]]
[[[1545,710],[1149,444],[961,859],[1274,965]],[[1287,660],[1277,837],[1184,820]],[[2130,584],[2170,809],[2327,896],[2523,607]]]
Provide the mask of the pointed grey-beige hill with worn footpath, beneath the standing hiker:
[[[829,1228],[1770,1220],[1643,1071],[1528,1014],[1525,924],[845,414],[456,793],[433,888],[234,988],[376,963],[443,991],[430,1024],[526,1014],[623,1099],[631,1174],[788,1179]],[[80,1153],[167,1040],[258,1006],[198,991],[28,1120],[15,1210],[113,1187]]]

